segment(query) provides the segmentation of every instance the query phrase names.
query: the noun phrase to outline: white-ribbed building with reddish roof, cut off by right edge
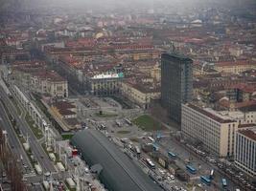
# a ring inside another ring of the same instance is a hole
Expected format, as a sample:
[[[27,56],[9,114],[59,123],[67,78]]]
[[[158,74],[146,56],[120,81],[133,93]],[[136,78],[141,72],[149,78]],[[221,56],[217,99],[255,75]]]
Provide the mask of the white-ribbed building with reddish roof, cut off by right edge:
[[[235,164],[244,173],[256,176],[256,126],[237,132]]]

